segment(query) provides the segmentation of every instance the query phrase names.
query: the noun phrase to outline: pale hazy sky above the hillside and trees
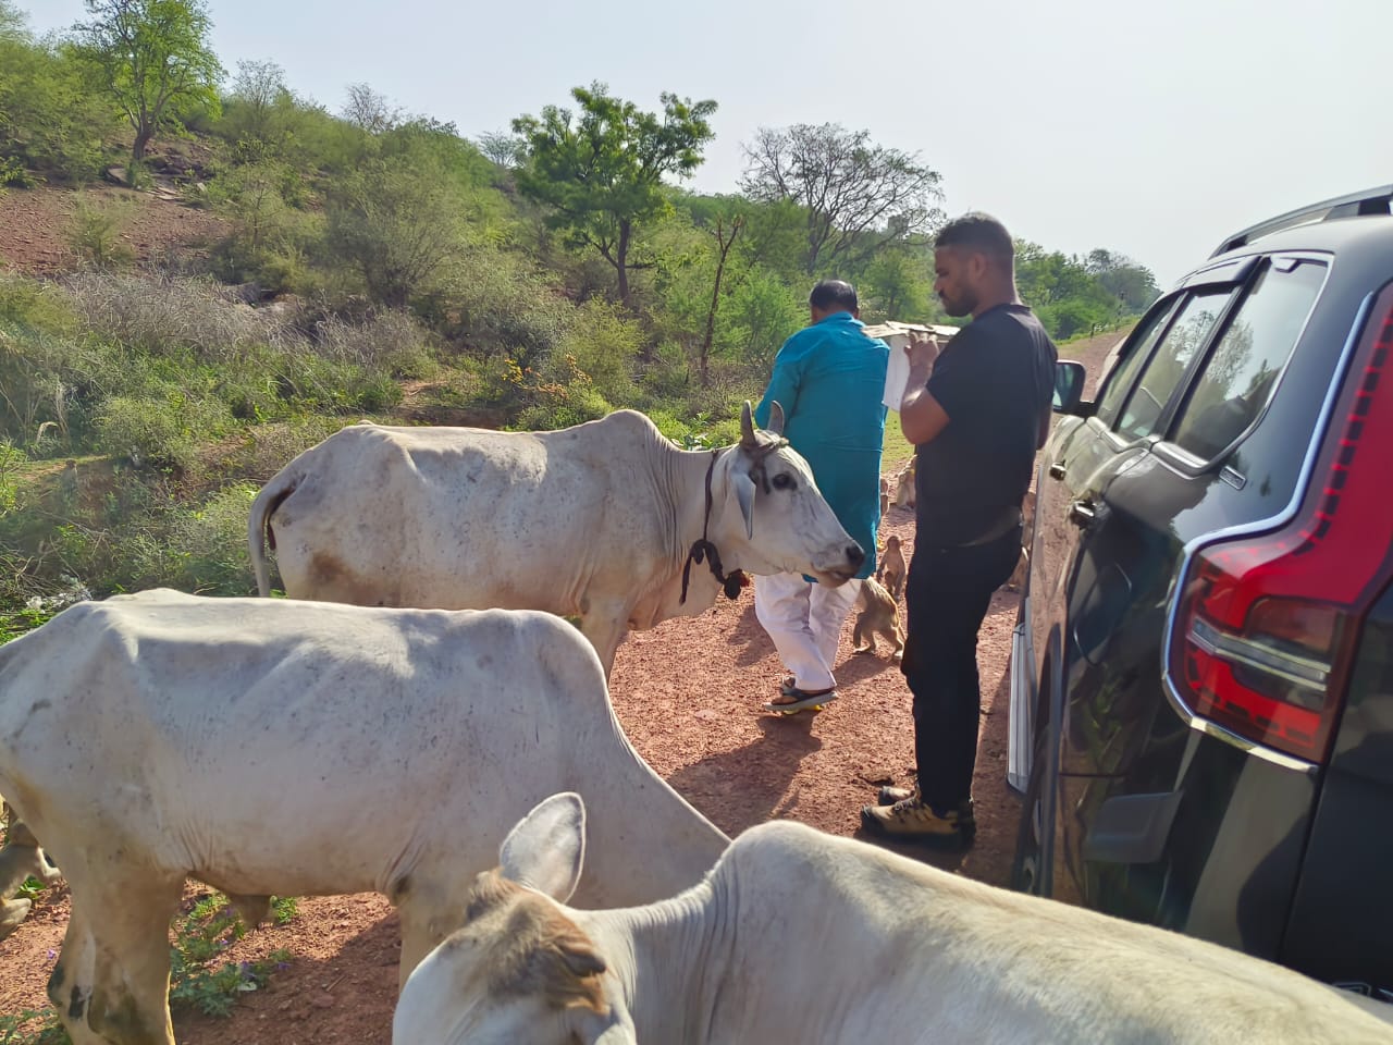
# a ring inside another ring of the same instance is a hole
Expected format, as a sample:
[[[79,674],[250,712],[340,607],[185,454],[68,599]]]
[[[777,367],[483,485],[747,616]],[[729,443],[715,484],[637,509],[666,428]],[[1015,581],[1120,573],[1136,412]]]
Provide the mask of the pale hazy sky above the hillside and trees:
[[[36,29],[81,0],[18,0]],[[694,185],[731,191],[761,125],[840,123],[921,153],[950,213],[1163,284],[1227,233],[1393,181],[1390,0],[212,0],[228,70],[273,60],[338,109],[366,81],[465,135],[595,79],[720,103]]]

